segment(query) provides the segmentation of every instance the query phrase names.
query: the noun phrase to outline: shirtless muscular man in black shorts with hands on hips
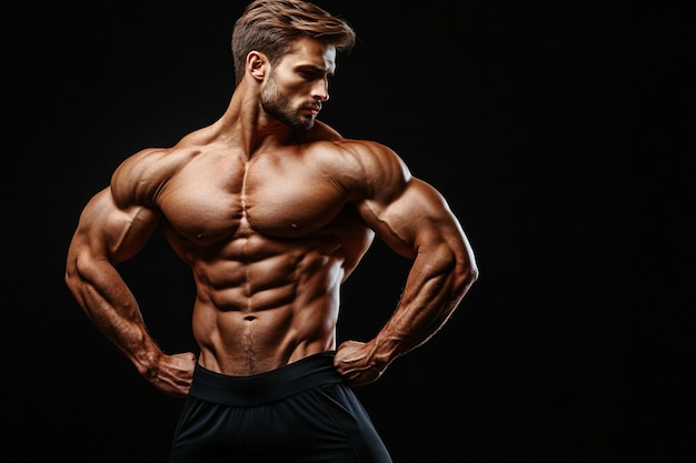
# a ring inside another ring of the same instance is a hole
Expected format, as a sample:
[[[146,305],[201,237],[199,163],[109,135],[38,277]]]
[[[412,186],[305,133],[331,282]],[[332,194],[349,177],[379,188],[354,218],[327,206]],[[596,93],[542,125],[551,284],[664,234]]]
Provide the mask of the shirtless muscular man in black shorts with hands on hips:
[[[438,191],[316,120],[355,39],[311,3],[251,2],[225,114],[126,159],[82,211],[67,284],[147,381],[187,397],[171,463],[390,462],[350,387],[432,336],[477,278]],[[117,271],[160,227],[193,274],[197,354],[160,350]],[[339,286],[375,234],[412,259],[401,300],[372,340],[336,346]]]

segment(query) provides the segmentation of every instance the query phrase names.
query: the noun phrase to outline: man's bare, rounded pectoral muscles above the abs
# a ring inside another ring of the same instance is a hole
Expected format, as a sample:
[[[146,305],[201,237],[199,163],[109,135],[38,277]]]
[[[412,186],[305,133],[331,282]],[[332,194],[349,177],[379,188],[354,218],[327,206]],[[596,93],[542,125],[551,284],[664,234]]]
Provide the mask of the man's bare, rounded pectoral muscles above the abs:
[[[298,160],[228,157],[191,162],[158,203],[178,234],[211,243],[251,233],[316,234],[339,215],[346,197],[330,174]]]

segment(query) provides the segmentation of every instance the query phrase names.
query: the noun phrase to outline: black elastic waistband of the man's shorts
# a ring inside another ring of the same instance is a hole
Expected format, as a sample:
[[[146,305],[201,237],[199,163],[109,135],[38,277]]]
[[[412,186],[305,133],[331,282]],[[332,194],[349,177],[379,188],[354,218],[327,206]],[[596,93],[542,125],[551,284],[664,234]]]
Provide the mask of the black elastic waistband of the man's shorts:
[[[190,395],[229,406],[256,406],[321,385],[341,382],[334,369],[335,351],[308,355],[288,365],[250,376],[228,376],[196,365]]]

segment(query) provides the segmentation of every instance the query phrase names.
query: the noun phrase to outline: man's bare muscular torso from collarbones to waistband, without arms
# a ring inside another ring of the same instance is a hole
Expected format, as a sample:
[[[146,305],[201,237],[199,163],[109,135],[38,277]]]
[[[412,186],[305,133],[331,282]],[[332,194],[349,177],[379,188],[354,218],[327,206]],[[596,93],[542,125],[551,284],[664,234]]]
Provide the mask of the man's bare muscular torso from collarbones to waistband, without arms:
[[[372,239],[336,180],[339,149],[177,150],[156,203],[193,271],[201,365],[248,375],[335,349],[339,285]]]

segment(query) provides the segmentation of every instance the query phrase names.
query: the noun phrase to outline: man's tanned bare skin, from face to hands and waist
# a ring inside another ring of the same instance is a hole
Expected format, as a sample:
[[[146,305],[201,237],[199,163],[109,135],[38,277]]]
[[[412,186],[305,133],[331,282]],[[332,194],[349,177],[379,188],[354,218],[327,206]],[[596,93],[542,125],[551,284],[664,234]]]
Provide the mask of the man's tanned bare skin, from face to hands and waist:
[[[131,155],[86,205],[67,284],[161,392],[187,395],[196,362],[250,375],[329,350],[349,384],[368,384],[435,334],[476,280],[471,248],[440,193],[389,148],[316,120],[336,52],[300,38],[275,68],[250,52],[218,121]],[[195,278],[198,355],[162,352],[117,271],[160,227]],[[375,234],[412,268],[379,333],[337,348],[339,288]]]

